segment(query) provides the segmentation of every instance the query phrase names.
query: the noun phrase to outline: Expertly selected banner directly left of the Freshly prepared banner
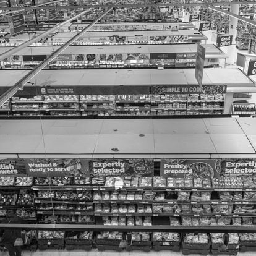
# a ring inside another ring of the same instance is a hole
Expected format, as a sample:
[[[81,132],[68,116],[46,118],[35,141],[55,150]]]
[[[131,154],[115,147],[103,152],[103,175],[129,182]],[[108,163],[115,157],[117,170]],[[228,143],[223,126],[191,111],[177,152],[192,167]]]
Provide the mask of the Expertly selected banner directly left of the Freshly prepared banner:
[[[95,159],[89,161],[89,169],[92,177],[140,177],[153,176],[153,159]]]

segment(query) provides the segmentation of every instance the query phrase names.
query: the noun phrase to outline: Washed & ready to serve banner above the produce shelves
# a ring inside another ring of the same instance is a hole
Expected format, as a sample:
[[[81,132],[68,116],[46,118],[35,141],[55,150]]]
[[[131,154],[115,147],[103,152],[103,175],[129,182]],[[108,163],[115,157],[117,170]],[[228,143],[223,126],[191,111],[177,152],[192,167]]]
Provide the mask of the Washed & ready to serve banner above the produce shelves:
[[[89,177],[88,160],[72,158],[25,159],[28,176],[32,177]]]

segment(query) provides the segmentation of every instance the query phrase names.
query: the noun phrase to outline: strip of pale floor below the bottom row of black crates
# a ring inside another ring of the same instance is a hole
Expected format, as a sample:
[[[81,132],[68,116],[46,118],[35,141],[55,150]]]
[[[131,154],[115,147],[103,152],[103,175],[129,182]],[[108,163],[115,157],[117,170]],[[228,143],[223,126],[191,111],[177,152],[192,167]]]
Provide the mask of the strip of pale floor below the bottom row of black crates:
[[[169,250],[161,251],[161,252],[142,252],[140,250],[134,250],[132,252],[114,252],[112,250],[108,250],[105,252],[98,252],[98,250],[93,249],[90,252],[85,252],[83,250],[75,250],[75,251],[66,251],[66,250],[46,250],[46,251],[36,251],[36,252],[28,252],[23,251],[22,256],[153,256],[153,255],[161,255],[161,256],[182,256],[182,252],[171,252]],[[211,254],[209,254],[211,255]],[[218,256],[226,256],[227,254],[220,254]],[[238,256],[255,256],[256,252],[244,252],[239,253]],[[9,256],[7,252],[0,252],[0,256]],[[202,256],[200,254],[189,254],[189,256]]]

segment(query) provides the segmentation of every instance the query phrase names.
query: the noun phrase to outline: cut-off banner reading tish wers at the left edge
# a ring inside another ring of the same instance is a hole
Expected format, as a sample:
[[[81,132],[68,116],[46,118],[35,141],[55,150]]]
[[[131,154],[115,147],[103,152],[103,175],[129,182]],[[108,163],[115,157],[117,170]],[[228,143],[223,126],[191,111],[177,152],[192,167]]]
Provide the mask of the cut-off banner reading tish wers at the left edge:
[[[26,169],[23,159],[1,159],[0,176],[24,176]]]

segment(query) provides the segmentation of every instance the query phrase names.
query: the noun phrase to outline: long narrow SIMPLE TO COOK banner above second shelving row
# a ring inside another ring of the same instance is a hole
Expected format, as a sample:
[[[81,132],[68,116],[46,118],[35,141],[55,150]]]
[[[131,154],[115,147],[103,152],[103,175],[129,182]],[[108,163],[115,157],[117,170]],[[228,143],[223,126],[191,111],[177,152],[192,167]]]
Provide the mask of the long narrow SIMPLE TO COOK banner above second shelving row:
[[[152,87],[152,94],[189,94],[203,93],[215,94],[226,93],[227,85],[156,85]]]

